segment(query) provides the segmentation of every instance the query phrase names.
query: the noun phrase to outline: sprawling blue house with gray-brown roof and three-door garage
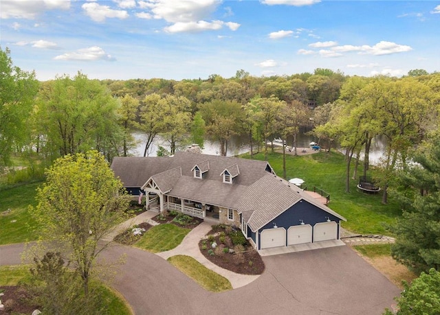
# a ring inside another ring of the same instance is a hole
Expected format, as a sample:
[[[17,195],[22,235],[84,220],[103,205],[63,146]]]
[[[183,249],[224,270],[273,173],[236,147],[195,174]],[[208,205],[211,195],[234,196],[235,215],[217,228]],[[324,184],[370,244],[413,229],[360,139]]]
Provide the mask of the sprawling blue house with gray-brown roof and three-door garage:
[[[236,226],[256,249],[338,240],[345,220],[265,161],[177,152],[116,157],[111,168],[147,207]]]

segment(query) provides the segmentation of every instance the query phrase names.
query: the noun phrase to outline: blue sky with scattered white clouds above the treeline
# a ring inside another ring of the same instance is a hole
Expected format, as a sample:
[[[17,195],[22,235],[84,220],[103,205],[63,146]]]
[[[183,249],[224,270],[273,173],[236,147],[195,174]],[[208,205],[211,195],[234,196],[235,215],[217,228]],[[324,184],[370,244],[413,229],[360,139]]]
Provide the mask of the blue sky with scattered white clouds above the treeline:
[[[39,80],[440,71],[440,1],[1,0],[0,14],[1,48]]]

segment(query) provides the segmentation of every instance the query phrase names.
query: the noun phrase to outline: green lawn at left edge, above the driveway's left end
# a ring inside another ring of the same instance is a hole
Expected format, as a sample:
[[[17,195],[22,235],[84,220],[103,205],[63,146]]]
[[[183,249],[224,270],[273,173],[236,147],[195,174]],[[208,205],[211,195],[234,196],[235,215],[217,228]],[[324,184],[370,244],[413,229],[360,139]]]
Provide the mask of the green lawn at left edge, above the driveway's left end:
[[[36,206],[36,187],[32,183],[0,190],[0,245],[36,240],[38,225],[30,217],[29,206]],[[6,213],[5,211],[8,211]]]

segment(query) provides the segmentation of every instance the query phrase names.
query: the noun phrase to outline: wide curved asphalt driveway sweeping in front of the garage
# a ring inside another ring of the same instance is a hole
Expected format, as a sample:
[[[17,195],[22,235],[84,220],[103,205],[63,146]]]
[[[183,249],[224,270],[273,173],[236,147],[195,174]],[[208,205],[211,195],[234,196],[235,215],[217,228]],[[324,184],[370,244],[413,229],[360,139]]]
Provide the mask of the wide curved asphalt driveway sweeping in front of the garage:
[[[23,245],[0,246],[0,264],[19,264]],[[125,253],[113,286],[135,314],[382,314],[399,289],[349,246],[263,257],[266,270],[242,288],[212,293],[161,257],[113,246],[104,259]]]

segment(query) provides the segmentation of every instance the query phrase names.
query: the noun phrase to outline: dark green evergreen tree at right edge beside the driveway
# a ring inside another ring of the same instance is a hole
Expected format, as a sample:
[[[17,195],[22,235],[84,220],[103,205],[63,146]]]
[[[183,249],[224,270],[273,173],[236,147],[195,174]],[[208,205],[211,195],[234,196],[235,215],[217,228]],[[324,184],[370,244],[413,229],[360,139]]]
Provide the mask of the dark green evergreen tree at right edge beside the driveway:
[[[404,212],[391,231],[391,253],[415,272],[440,270],[440,133],[421,145],[407,170],[399,172]]]

